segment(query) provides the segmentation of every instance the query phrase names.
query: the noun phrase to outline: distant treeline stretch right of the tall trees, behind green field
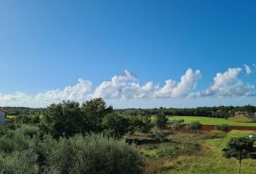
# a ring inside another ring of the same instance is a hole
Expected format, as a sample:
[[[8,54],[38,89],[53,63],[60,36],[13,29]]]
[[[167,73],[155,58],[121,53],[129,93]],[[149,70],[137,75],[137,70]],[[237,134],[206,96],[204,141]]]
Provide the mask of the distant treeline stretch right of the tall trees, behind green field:
[[[164,113],[165,115],[187,115],[187,116],[208,116],[227,118],[235,113],[244,113],[247,115],[254,115],[256,107],[246,105],[242,107],[234,106],[219,106],[219,107],[198,107],[198,108],[155,108],[155,109],[123,109],[116,110],[117,113],[125,113],[131,115],[158,115]]]

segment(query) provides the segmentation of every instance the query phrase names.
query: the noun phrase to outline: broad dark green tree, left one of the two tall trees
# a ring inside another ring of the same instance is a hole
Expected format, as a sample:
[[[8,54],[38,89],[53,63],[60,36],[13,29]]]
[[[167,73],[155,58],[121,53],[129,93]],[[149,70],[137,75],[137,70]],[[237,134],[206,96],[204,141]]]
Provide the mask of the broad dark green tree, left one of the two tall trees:
[[[50,105],[46,108],[42,129],[54,138],[68,137],[81,132],[80,104],[74,101],[64,101],[60,104]]]

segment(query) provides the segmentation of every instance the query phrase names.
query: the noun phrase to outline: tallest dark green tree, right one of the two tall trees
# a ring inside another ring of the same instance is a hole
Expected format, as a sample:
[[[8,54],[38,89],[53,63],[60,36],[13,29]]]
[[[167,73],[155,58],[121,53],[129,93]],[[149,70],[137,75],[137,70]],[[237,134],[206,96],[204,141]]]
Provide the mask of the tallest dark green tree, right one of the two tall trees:
[[[95,98],[82,103],[83,131],[101,132],[102,120],[108,113],[113,113],[112,106],[106,107],[102,98]]]

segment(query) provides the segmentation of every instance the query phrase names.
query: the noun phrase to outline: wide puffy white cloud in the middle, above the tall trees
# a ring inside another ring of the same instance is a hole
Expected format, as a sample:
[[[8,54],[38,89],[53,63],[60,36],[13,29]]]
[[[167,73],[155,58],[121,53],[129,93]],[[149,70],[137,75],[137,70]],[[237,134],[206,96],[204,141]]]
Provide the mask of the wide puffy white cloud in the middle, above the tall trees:
[[[188,69],[179,82],[168,79],[166,84],[160,87],[152,81],[140,85],[136,76],[125,71],[122,76],[115,76],[110,81],[103,81],[96,88],[93,96],[105,99],[186,97],[196,87],[200,78],[199,70],[193,72],[192,69]]]

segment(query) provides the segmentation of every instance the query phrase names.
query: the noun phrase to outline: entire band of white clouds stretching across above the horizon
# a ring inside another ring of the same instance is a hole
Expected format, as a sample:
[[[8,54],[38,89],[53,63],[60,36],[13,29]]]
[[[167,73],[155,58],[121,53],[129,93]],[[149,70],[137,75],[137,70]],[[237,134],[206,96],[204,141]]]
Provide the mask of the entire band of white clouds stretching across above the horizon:
[[[247,69],[246,65],[245,67]],[[0,106],[45,107],[62,100],[82,102],[94,97],[103,97],[117,103],[117,101],[129,101],[128,99],[136,99],[137,101],[149,99],[148,101],[155,102],[165,99],[172,99],[173,101],[175,99],[182,102],[184,98],[190,98],[190,96],[201,99],[205,96],[254,96],[254,86],[248,83],[245,84],[239,78],[241,72],[242,68],[229,68],[224,73],[217,73],[208,89],[193,93],[198,80],[202,78],[199,70],[188,69],[180,80],[167,79],[163,85],[155,84],[153,81],[140,84],[133,73],[125,70],[120,76],[102,81],[95,90],[92,90],[90,81],[80,78],[78,83],[73,86],[67,86],[62,90],[47,91],[35,96],[29,96],[21,92],[11,95],[0,94]],[[250,71],[247,71],[247,74],[250,73]]]

